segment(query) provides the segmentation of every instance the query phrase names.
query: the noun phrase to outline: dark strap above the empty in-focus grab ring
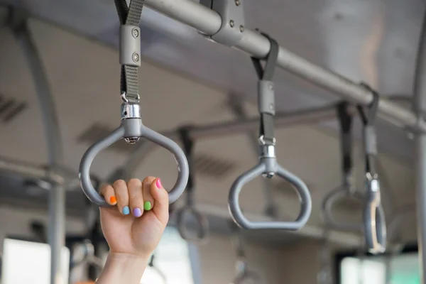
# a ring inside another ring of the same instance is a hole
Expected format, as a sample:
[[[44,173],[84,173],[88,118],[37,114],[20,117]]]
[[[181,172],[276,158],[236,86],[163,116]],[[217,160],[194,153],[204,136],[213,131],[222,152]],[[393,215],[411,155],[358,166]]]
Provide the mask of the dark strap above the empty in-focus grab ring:
[[[258,58],[251,57],[251,62],[253,62],[253,66],[256,70],[256,74],[258,75],[259,80],[272,81],[273,75],[275,73],[275,67],[277,65],[280,45],[278,45],[277,41],[271,38],[266,33],[261,34],[268,38],[269,42],[271,43],[271,49],[269,50],[269,53],[266,56],[266,65],[263,68],[261,60],[259,60]],[[261,96],[261,94],[258,94],[258,96]],[[273,115],[261,113],[260,116],[261,125],[259,129],[259,134],[260,136],[263,136],[263,141],[265,141],[266,145],[271,145],[275,143]]]

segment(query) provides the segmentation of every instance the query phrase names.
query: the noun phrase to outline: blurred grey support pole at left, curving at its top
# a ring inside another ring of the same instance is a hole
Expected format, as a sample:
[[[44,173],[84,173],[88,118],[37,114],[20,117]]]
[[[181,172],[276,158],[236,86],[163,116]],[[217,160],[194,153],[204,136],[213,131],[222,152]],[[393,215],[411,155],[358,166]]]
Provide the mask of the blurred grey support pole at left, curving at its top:
[[[19,45],[23,50],[28,67],[35,84],[35,89],[40,103],[43,125],[45,128],[46,143],[48,149],[48,164],[51,168],[62,165],[62,143],[58,116],[55,113],[55,105],[50,92],[48,78],[43,62],[37,48],[35,48],[31,32],[29,31],[26,16],[21,11],[11,10],[12,19],[19,19],[12,25],[12,29]],[[61,251],[65,246],[65,188],[60,183],[53,182],[48,200],[48,243],[50,244],[50,283],[62,283],[63,275],[60,271],[62,262]]]

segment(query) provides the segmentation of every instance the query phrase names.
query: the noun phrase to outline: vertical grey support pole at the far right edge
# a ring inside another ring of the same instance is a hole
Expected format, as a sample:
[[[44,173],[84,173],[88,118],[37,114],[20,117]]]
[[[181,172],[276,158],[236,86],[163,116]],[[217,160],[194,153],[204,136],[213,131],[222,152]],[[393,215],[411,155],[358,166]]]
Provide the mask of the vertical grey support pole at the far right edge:
[[[423,121],[426,114],[426,13],[420,34],[415,70],[413,108],[418,121]],[[415,135],[416,151],[416,200],[417,200],[417,245],[420,266],[420,283],[425,284],[426,271],[426,133],[417,131]]]

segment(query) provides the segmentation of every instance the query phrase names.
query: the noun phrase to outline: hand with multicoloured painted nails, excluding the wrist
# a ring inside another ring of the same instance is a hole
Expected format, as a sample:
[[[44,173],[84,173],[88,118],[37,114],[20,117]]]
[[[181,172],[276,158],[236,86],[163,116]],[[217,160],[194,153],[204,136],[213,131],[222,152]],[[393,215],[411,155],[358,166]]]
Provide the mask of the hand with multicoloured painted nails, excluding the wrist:
[[[168,223],[168,192],[159,178],[143,182],[116,180],[101,189],[107,203],[101,207],[101,224],[110,255],[118,254],[148,260],[158,246]]]

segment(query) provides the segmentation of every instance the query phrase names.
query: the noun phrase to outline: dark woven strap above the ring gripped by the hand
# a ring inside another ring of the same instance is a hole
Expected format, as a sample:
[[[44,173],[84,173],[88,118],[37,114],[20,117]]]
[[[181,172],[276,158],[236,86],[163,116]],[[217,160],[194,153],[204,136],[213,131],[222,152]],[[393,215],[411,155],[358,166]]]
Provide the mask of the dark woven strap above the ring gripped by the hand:
[[[126,0],[114,0],[121,25],[139,26],[145,0],[131,0],[127,6]],[[121,94],[126,94],[129,102],[139,101],[138,67],[121,66]]]

